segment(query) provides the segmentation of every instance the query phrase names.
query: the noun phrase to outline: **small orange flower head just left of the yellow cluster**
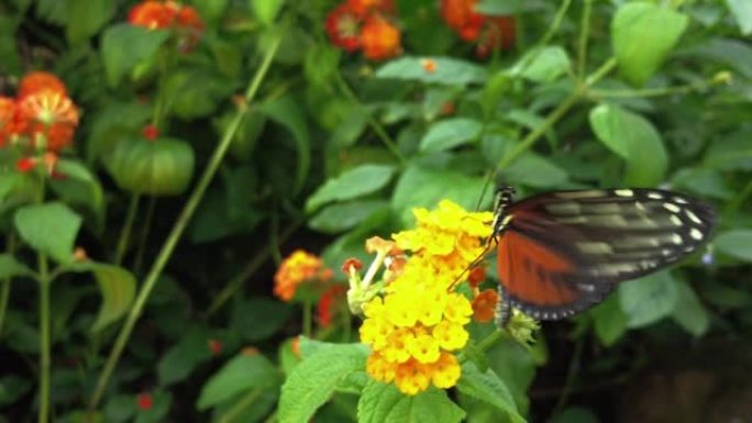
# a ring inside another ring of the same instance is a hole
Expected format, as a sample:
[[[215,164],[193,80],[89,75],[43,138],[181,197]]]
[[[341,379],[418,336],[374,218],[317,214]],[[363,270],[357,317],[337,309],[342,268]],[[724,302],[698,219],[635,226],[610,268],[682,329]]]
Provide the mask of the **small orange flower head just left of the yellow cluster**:
[[[274,294],[283,301],[290,301],[301,282],[308,280],[325,281],[332,271],[323,266],[323,261],[313,254],[298,249],[283,260],[274,275]]]

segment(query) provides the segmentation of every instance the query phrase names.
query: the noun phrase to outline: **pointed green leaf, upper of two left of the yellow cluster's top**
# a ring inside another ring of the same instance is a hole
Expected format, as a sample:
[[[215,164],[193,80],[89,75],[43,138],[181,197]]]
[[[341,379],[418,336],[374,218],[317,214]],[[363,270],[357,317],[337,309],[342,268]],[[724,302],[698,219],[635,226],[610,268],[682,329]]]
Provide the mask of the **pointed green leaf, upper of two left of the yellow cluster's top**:
[[[308,225],[319,232],[334,234],[354,227],[372,214],[389,209],[385,200],[355,200],[321,209]]]

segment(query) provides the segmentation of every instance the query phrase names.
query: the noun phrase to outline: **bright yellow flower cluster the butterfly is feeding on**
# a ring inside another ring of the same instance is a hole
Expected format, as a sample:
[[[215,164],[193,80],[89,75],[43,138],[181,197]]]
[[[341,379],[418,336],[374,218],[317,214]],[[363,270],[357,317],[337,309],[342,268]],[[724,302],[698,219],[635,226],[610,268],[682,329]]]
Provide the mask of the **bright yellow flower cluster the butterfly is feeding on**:
[[[418,227],[394,234],[397,247],[412,254],[386,286],[384,298],[364,305],[361,339],[371,345],[366,370],[394,382],[406,394],[429,385],[450,388],[460,379],[453,352],[469,337],[471,302],[451,292],[455,279],[484,251],[491,213],[468,213],[451,201],[438,210],[413,211]]]

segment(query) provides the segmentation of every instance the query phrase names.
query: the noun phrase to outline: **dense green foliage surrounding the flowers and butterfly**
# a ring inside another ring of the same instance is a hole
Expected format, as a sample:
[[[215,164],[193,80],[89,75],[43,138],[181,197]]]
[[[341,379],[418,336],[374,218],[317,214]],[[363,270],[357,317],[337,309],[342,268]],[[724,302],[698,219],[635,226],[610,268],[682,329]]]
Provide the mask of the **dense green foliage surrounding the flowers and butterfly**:
[[[169,55],[168,34],[124,23],[132,2],[0,1],[0,88],[47,69],[82,110],[59,163],[69,178],[46,201],[0,157],[0,422],[32,421],[44,401],[46,312],[58,422],[86,421],[91,404],[91,421],[115,423],[616,421],[617,392],[661,367],[653,357],[749,343],[748,0],[482,1],[518,25],[515,47],[487,59],[435,1],[398,0],[405,53],[384,63],[330,44],[334,1],[191,4],[206,32]],[[158,142],[143,143],[147,123]],[[286,254],[305,247],[333,269],[367,260],[364,240],[410,225],[414,207],[487,209],[493,172],[522,197],[668,188],[714,203],[720,223],[706,252],[544,325],[532,349],[505,338],[467,350],[449,394],[369,381],[356,319],[292,353],[310,304],[270,296]],[[74,246],[92,260],[73,260]],[[611,402],[588,393],[604,380]],[[531,383],[555,387],[553,400]]]

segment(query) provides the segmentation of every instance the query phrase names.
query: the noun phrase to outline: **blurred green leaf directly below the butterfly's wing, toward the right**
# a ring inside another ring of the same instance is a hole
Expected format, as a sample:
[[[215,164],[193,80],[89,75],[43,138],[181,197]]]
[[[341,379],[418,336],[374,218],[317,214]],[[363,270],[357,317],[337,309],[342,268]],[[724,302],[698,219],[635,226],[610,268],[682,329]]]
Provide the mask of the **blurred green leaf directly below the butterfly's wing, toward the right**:
[[[667,270],[619,286],[619,301],[628,327],[648,326],[671,315],[677,300],[676,281]]]

